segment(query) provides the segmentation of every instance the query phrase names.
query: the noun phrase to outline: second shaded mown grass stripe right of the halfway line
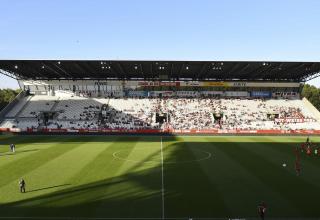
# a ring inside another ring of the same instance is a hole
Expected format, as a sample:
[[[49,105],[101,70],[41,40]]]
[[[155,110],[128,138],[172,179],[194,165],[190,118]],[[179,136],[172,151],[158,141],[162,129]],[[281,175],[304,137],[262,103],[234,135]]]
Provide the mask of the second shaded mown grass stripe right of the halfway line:
[[[255,145],[252,142],[242,142],[241,144]],[[253,212],[253,208],[261,201],[269,202],[270,198],[272,198],[273,204],[281,204],[282,209],[290,210],[293,208],[282,195],[269,189],[265,181],[261,181],[246,166],[238,162],[237,157],[242,158],[246,151],[236,150],[237,145],[235,143],[227,140],[225,143],[208,142],[203,144],[203,147],[211,150],[213,154],[213,159],[204,161],[203,166],[223,194],[223,199],[230,209],[229,217],[255,215],[256,212]],[[230,154],[230,151],[234,154]],[[254,158],[246,158],[246,160],[250,161]],[[251,169],[254,168],[251,167]],[[246,202],[239,203],[242,200]],[[273,211],[275,209],[272,209]],[[270,212],[268,211],[268,215],[270,215]]]

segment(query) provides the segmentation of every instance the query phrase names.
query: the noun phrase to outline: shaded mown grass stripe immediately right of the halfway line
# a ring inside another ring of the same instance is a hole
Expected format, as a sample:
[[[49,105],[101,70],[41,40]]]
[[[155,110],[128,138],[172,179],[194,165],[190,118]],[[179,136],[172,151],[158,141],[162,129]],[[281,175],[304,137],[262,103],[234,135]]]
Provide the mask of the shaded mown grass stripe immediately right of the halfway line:
[[[200,164],[198,162],[179,163],[185,158],[197,160],[192,152],[193,147],[199,147],[197,143],[183,142],[180,138],[164,140],[164,152],[170,151],[170,153],[165,153],[164,163],[166,217],[224,216],[224,213],[228,212],[228,207]],[[170,164],[166,161],[176,163]],[[195,203],[197,205],[193,206],[192,204]]]

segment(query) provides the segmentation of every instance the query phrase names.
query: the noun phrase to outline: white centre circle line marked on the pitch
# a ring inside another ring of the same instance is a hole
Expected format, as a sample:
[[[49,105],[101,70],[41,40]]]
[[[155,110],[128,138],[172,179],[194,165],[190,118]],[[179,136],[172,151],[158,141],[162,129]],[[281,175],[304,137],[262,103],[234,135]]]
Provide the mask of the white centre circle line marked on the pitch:
[[[139,149],[136,149],[136,150],[144,150],[146,148],[139,148]],[[148,148],[150,149],[150,148]],[[139,160],[130,160],[130,159],[127,159],[127,158],[124,158],[124,157],[121,157],[119,156],[119,153],[121,152],[124,152],[126,150],[119,150],[119,151],[116,151],[112,154],[112,156],[115,158],[115,159],[118,159],[118,160],[123,160],[123,161],[127,161],[127,162],[132,162],[132,163],[141,163],[142,161],[139,161]],[[201,152],[201,153],[204,153],[206,154],[205,157],[202,157],[202,158],[199,158],[197,160],[182,160],[182,161],[176,161],[176,162],[170,162],[170,161],[166,161],[163,163],[164,164],[180,164],[180,163],[193,163],[193,162],[199,162],[199,161],[203,161],[203,160],[208,160],[210,157],[212,157],[212,154],[208,151],[204,151],[204,150],[198,150],[198,149],[194,149],[194,151],[198,151],[198,152]],[[156,161],[156,160],[149,160],[149,161],[143,161],[142,163],[159,163],[159,161]]]

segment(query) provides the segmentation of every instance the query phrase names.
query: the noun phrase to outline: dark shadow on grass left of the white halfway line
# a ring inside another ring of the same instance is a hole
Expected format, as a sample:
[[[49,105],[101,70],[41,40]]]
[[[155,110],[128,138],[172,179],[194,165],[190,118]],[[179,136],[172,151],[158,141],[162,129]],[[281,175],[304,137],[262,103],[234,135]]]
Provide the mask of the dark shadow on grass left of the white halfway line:
[[[160,181],[160,170],[130,173],[3,204],[0,216],[161,217]]]

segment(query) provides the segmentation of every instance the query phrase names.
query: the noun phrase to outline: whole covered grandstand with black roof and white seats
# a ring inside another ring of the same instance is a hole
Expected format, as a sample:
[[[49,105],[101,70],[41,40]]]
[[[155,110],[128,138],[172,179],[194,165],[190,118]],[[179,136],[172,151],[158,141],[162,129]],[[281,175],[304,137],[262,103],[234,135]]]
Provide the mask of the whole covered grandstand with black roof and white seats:
[[[301,99],[315,62],[0,61],[21,94],[1,112],[14,132],[318,133]]]

